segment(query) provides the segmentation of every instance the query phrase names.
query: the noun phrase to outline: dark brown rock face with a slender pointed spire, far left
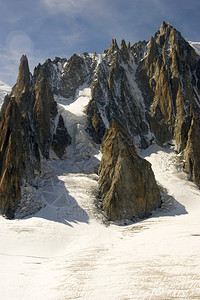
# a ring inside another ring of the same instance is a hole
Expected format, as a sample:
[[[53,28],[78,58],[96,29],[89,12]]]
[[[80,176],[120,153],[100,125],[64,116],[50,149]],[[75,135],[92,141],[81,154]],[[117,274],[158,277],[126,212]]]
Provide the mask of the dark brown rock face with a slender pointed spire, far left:
[[[21,196],[20,186],[40,172],[41,157],[61,141],[62,157],[70,138],[62,117],[56,134],[57,104],[42,72],[33,84],[28,60],[22,56],[17,84],[6,97],[0,115],[0,211],[13,217]],[[62,138],[61,138],[62,136]]]

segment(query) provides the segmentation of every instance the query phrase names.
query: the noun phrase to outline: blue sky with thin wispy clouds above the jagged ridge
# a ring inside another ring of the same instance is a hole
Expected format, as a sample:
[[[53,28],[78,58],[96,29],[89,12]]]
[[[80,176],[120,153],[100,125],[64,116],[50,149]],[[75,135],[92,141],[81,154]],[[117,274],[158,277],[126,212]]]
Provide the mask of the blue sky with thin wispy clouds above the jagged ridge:
[[[199,0],[0,0],[0,80],[13,86],[22,54],[30,71],[56,56],[102,53],[113,38],[150,40],[162,21],[200,42]]]

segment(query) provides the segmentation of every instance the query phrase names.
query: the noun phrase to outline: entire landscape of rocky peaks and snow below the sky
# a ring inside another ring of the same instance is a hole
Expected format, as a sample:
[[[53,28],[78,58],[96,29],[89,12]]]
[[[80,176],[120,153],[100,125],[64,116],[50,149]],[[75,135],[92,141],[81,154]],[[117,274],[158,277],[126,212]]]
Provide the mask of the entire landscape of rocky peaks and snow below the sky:
[[[0,82],[1,299],[200,297],[196,44],[163,22]]]

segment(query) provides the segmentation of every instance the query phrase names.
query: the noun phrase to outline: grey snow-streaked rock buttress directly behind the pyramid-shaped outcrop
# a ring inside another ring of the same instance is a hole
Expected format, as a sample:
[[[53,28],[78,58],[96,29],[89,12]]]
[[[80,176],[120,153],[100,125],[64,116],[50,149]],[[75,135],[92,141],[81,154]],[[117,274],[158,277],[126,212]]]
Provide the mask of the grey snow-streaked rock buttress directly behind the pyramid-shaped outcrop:
[[[130,45],[127,47],[122,40],[119,48],[112,40],[93,78],[87,109],[88,132],[97,143],[101,143],[110,123],[116,121],[135,143],[148,146],[149,126],[144,100],[134,80],[136,68]]]

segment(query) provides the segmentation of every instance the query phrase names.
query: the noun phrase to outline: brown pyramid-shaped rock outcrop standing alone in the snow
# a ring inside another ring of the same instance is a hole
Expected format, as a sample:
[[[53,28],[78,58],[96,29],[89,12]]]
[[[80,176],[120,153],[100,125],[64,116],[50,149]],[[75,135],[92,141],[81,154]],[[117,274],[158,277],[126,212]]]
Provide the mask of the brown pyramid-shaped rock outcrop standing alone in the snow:
[[[115,122],[103,140],[99,183],[103,209],[110,220],[144,218],[161,205],[150,163],[138,156]]]

